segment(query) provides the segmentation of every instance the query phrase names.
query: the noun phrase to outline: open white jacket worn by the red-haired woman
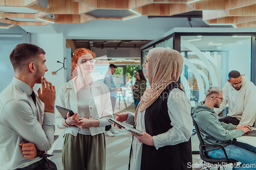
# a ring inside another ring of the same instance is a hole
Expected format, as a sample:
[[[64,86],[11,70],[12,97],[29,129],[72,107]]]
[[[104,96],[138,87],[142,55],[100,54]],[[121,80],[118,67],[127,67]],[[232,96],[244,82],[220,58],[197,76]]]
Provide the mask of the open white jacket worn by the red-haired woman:
[[[73,110],[73,112],[78,111],[77,105],[77,95],[75,88],[75,77],[70,80],[68,83],[60,87],[59,93],[57,95],[55,105],[65,107]],[[90,99],[90,117],[89,119],[100,119],[102,117],[108,116],[113,117],[112,105],[110,100],[110,91],[108,86],[104,83],[101,83],[98,80],[92,79],[92,96]],[[68,126],[65,127],[62,125],[62,120],[64,118],[61,116],[59,111],[55,108],[55,126],[59,129],[65,128],[65,133],[70,133],[74,136],[77,135],[79,128],[77,126]],[[110,122],[109,125],[112,123]],[[97,135],[105,131],[105,126],[102,127],[90,127],[91,135]]]

